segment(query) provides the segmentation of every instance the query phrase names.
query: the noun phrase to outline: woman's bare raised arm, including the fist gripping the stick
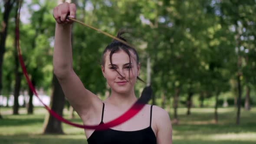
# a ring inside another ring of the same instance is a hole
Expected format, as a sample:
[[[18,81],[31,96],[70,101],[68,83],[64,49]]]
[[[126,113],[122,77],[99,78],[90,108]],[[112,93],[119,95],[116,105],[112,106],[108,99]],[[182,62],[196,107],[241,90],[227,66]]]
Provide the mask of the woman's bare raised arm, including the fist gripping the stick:
[[[101,113],[102,101],[87,90],[72,68],[71,28],[72,22],[66,16],[75,17],[73,3],[62,3],[54,8],[56,20],[53,70],[62,90],[79,116],[85,121],[90,115]]]

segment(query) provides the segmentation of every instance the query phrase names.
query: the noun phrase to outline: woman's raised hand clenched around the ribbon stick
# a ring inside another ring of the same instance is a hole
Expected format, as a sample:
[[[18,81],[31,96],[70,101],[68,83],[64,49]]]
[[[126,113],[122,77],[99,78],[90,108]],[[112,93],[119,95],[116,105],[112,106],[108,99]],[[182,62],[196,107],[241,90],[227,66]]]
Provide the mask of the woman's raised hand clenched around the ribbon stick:
[[[76,7],[74,3],[62,3],[53,9],[53,17],[59,24],[71,24],[72,21],[66,19],[66,16],[75,18]]]

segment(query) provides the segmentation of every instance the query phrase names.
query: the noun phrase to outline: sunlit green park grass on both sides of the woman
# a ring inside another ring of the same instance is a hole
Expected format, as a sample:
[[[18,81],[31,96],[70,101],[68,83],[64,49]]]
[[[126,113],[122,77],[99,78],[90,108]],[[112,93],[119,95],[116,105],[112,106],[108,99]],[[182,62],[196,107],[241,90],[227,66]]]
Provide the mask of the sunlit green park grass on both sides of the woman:
[[[11,108],[1,108],[1,144],[87,144],[83,129],[63,124],[65,134],[42,134],[44,108],[35,108],[35,115],[26,115],[24,108],[20,115],[10,115]],[[219,108],[219,122],[213,121],[213,108],[192,108],[186,115],[186,108],[178,109],[179,124],[173,124],[174,144],[256,144],[256,108],[241,111],[240,125],[236,125],[235,108]],[[67,111],[64,111],[67,117]],[[173,109],[170,112],[173,119]],[[76,115],[72,121],[81,123]]]

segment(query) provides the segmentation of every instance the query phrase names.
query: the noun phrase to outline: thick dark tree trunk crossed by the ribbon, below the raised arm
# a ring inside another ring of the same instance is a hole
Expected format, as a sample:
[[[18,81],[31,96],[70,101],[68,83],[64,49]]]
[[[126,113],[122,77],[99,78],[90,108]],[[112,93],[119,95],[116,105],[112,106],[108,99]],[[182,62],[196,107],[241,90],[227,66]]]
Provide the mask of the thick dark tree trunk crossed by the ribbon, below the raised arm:
[[[53,75],[53,93],[51,95],[50,107],[58,115],[62,116],[65,105],[65,96],[59,85],[56,75]],[[53,115],[46,115],[44,124],[44,134],[63,134],[61,121],[58,121]]]

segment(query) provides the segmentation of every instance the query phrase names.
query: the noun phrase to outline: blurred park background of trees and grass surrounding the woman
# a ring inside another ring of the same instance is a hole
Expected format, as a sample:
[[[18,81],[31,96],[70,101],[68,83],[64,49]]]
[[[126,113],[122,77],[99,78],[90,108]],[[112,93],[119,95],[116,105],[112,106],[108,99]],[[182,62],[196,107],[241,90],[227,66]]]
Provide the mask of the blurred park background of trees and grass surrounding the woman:
[[[30,80],[58,114],[80,123],[53,75],[53,8],[65,0],[23,0],[20,48]],[[83,129],[56,121],[39,105],[16,48],[20,0],[0,1],[0,143],[86,143]],[[112,35],[125,29],[138,50],[140,77],[152,85],[149,104],[167,110],[174,144],[256,143],[255,0],[69,0],[76,19]],[[73,68],[105,99],[100,69],[112,41],[72,27]],[[140,95],[144,83],[135,86]]]

